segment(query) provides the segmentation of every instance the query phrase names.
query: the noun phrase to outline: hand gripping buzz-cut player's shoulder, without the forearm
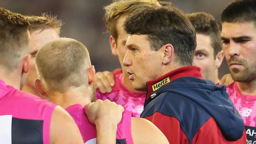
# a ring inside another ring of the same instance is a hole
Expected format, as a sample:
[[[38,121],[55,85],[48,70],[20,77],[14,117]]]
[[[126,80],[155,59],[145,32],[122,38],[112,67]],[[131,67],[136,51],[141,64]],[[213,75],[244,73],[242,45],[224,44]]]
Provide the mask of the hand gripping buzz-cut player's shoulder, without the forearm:
[[[117,126],[122,119],[124,108],[110,100],[96,100],[87,104],[86,115],[89,121],[98,125]]]

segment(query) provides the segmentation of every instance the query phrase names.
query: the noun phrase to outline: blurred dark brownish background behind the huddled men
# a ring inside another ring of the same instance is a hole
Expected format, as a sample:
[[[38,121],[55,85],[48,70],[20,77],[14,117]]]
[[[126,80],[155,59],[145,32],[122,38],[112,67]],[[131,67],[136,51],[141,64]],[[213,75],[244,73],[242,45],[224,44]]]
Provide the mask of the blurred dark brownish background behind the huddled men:
[[[217,21],[224,7],[232,0],[163,0],[170,1],[185,13],[206,12]],[[0,7],[22,15],[58,15],[65,23],[61,37],[82,42],[89,50],[96,72],[120,68],[118,58],[111,54],[109,34],[103,21],[103,7],[112,0],[0,0]],[[226,60],[219,68],[219,78],[228,73]]]

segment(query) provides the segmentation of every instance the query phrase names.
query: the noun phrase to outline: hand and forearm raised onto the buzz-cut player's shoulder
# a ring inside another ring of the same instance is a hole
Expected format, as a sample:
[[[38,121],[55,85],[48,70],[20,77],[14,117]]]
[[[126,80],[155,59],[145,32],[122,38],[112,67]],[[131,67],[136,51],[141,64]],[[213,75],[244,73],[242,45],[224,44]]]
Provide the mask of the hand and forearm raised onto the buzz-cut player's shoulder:
[[[97,144],[115,144],[117,125],[122,119],[124,108],[109,100],[89,103],[86,115],[97,130]]]

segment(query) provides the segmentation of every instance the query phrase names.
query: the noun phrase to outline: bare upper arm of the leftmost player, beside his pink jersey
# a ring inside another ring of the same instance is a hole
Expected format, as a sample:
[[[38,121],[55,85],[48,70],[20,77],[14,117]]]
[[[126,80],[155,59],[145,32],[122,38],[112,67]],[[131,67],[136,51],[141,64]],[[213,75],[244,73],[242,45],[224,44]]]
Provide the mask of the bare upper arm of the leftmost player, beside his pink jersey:
[[[83,144],[74,119],[59,106],[54,109],[51,118],[50,144]]]

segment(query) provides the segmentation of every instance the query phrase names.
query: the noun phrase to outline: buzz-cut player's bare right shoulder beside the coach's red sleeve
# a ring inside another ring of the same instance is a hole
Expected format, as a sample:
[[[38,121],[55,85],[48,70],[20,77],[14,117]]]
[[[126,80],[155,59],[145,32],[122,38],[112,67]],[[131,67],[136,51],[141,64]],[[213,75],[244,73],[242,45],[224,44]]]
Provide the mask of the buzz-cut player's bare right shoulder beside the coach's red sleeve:
[[[131,126],[134,144],[169,144],[165,135],[145,118],[132,117]]]

